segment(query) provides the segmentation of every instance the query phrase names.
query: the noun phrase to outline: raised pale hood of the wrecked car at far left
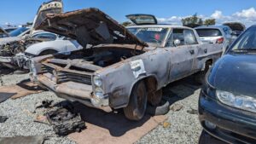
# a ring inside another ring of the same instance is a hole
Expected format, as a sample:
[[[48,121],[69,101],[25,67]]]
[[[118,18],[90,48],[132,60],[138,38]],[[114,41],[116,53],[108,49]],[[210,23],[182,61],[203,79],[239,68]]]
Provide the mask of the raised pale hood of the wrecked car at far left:
[[[61,14],[63,12],[63,3],[61,0],[51,0],[48,3],[43,3],[39,9],[38,13],[34,18],[33,25],[32,25],[32,32],[35,30],[39,24],[45,20],[47,14]]]

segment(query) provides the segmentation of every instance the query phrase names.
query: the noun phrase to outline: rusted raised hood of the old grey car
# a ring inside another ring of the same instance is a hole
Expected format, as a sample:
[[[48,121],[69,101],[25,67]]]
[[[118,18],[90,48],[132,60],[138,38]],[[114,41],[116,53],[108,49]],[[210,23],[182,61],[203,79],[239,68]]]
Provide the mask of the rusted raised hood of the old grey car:
[[[99,9],[81,9],[63,14],[48,14],[36,27],[76,39],[82,46],[102,43],[137,44],[148,46],[124,26]]]

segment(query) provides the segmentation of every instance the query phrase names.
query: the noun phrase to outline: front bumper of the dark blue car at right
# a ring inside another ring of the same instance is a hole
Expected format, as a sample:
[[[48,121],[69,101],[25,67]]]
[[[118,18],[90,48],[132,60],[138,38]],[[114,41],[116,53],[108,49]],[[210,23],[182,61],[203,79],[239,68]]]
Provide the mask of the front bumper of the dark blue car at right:
[[[256,118],[252,118],[252,113],[248,114],[225,106],[202,92],[199,100],[199,119],[204,130],[222,141],[229,143],[256,141]],[[207,128],[206,121],[215,124],[216,129]]]

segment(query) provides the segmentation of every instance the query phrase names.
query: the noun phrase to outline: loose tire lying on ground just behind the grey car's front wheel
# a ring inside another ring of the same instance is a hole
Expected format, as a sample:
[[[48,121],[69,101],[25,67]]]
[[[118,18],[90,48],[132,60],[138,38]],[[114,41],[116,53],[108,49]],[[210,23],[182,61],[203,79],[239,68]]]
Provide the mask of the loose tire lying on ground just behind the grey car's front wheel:
[[[147,113],[152,116],[165,115],[170,110],[170,102],[162,99],[158,106],[148,105]]]

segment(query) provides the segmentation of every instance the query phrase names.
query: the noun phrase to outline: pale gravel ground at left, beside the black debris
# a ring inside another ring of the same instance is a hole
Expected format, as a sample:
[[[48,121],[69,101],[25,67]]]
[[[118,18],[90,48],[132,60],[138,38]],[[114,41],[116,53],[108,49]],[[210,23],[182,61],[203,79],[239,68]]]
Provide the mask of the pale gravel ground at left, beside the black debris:
[[[2,77],[3,85],[19,83],[21,80],[28,78],[28,75],[5,75]],[[45,135],[49,140],[45,144],[75,144],[74,141],[67,137],[55,135],[52,126],[40,124],[34,120],[43,115],[48,110],[45,108],[36,109],[35,106],[44,100],[53,100],[54,103],[64,101],[55,96],[52,92],[43,92],[40,94],[27,95],[20,99],[9,99],[0,104],[0,115],[8,116],[9,119],[0,124],[0,137]]]

